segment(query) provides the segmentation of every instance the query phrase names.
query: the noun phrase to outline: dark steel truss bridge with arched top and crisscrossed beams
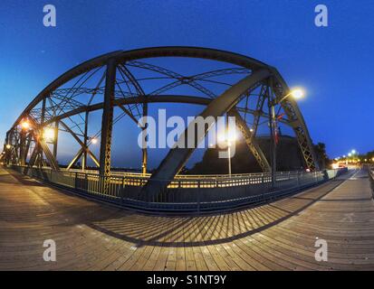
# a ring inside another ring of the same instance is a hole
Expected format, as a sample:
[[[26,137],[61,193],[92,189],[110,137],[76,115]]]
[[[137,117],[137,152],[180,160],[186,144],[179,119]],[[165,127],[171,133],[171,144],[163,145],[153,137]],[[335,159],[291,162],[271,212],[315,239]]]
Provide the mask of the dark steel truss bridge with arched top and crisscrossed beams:
[[[183,65],[169,68],[180,60]],[[166,64],[162,65],[163,61]],[[196,66],[192,64],[194,61],[197,61]],[[200,71],[191,72],[196,67]],[[187,89],[180,89],[182,87]],[[278,70],[229,51],[198,47],[114,51],[66,71],[43,89],[6,133],[2,161],[22,166],[24,173],[42,167],[49,167],[52,172],[69,172],[81,159],[84,171],[91,158],[102,177],[100,191],[106,193],[110,191],[112,176],[113,126],[125,116],[138,123],[139,117],[147,116],[154,103],[179,103],[202,106],[201,117],[234,116],[248,146],[248,154],[253,154],[263,172],[268,173],[272,171],[271,163],[257,144],[256,135],[259,127],[269,122],[270,104],[288,93],[289,88]],[[114,109],[120,110],[118,117],[114,117]],[[102,111],[101,129],[92,136],[88,135],[89,116],[96,110]],[[296,102],[292,98],[285,99],[278,105],[277,114],[283,116],[279,121],[290,126],[296,135],[306,167],[318,172],[312,140]],[[27,130],[21,126],[25,119],[31,123]],[[52,144],[43,137],[46,127],[55,132]],[[147,132],[147,127],[142,129]],[[180,137],[187,135],[187,129]],[[204,129],[203,137],[209,127]],[[80,146],[66,170],[62,170],[56,160],[59,131],[71,135]],[[99,156],[90,148],[95,137],[101,140]],[[140,182],[141,192],[157,195],[166,189],[194,150],[170,149],[155,172],[149,175],[148,151],[142,149],[141,175],[147,182]]]

